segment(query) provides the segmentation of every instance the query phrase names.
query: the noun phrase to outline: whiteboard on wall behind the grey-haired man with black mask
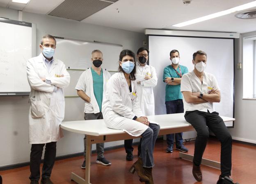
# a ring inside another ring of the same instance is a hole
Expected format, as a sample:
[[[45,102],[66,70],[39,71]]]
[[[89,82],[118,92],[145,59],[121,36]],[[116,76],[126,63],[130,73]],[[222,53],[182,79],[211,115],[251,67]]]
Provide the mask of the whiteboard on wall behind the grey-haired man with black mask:
[[[60,59],[66,68],[86,70],[91,67],[91,52],[101,50],[103,53],[102,68],[117,71],[122,45],[97,43],[56,37],[55,58]]]

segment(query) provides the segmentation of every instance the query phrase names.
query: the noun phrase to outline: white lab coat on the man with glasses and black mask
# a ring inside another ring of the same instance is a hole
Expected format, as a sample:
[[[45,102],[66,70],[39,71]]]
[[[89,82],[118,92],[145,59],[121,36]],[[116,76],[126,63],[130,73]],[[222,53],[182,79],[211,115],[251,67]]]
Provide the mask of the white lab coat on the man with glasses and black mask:
[[[151,75],[151,79],[145,80],[145,75]],[[155,115],[155,99],[153,87],[156,86],[158,78],[153,66],[145,65],[140,66],[136,63],[136,82],[138,84],[138,99],[142,112],[145,116]]]

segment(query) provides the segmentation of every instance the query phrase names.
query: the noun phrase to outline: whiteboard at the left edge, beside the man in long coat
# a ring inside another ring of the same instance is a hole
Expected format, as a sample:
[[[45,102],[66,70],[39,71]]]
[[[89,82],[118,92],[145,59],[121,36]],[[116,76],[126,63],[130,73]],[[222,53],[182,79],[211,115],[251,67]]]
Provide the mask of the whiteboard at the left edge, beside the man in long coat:
[[[0,95],[29,94],[26,62],[32,57],[32,35],[31,23],[0,18]]]

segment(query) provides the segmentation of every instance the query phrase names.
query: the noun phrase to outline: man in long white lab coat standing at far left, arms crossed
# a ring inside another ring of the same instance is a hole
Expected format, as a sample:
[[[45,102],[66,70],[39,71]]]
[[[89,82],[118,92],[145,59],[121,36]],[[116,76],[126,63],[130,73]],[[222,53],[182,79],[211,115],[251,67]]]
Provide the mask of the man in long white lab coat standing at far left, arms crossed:
[[[27,61],[27,80],[31,87],[29,111],[30,184],[38,184],[43,147],[41,184],[53,184],[50,180],[56,157],[56,142],[62,137],[60,123],[64,119],[65,101],[63,88],[69,86],[70,75],[65,64],[53,57],[56,40],[43,36],[42,53]]]

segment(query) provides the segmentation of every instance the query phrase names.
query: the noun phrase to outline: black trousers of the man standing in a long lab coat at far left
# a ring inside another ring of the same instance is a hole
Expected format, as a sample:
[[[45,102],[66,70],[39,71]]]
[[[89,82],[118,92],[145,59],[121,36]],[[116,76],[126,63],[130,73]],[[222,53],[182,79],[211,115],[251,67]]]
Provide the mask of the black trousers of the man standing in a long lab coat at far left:
[[[56,142],[32,144],[30,153],[30,180],[38,181],[40,179],[40,164],[44,145],[46,145],[46,148],[43,158],[42,178],[50,178],[56,157]]]

